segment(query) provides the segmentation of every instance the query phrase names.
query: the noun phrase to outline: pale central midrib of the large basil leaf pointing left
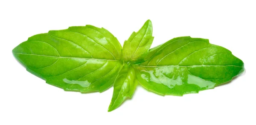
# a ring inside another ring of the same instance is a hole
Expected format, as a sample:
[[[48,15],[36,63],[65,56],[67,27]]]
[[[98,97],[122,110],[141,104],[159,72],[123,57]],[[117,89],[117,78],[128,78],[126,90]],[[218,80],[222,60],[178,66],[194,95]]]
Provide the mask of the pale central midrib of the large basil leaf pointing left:
[[[82,58],[82,57],[64,57],[64,56],[47,56],[47,55],[27,54],[27,53],[14,53],[14,54],[20,54],[20,55],[33,55],[33,56],[45,56],[45,57],[52,57],[52,58],[77,58],[77,59],[87,59],[87,60],[120,61],[120,60],[112,60],[112,59]]]

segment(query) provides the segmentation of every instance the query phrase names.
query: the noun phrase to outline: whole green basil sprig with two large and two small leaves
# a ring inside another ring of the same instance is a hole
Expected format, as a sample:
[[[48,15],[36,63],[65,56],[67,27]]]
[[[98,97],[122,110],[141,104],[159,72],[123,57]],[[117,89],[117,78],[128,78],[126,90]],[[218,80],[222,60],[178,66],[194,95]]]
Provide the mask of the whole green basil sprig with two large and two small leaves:
[[[208,39],[177,37],[150,48],[148,20],[123,49],[109,31],[92,25],[49,31],[12,50],[32,74],[65,91],[103,92],[114,86],[108,111],[132,97],[137,84],[162,95],[198,93],[232,80],[244,63]]]

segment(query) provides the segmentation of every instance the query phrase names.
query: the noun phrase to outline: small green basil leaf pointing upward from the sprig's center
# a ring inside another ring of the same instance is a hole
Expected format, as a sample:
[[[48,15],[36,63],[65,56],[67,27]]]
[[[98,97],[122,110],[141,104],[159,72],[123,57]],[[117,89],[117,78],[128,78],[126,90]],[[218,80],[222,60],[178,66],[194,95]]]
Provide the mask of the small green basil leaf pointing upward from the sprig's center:
[[[154,39],[152,31],[152,23],[147,20],[137,33],[133,32],[124,42],[123,57],[126,62],[144,60]]]

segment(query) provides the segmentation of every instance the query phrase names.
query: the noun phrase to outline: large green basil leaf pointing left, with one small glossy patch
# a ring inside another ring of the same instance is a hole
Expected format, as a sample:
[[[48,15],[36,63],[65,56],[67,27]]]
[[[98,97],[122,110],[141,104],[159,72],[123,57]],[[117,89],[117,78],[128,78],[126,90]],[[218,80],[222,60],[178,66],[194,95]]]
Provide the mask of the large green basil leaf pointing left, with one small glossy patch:
[[[32,36],[12,52],[29,72],[65,91],[103,92],[123,65],[118,40],[91,25]]]

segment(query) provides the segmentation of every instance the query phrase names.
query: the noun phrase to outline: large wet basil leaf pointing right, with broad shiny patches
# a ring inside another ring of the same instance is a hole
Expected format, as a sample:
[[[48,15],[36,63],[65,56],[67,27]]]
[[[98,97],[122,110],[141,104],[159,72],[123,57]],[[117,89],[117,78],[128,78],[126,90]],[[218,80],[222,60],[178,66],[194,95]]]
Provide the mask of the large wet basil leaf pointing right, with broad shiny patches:
[[[149,50],[136,66],[139,83],[163,95],[212,89],[244,71],[244,63],[208,39],[178,37]]]

